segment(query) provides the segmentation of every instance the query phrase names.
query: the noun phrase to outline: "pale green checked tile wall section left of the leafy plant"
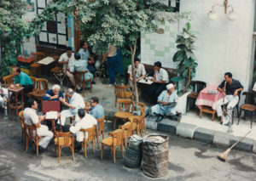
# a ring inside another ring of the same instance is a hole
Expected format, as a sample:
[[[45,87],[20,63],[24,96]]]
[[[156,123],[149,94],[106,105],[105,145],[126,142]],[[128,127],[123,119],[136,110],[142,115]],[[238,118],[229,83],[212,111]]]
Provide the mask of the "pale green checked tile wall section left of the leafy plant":
[[[163,34],[141,33],[141,59],[144,64],[153,65],[155,61],[160,61],[163,66],[176,68],[177,64],[172,61],[173,54],[176,53],[177,23],[160,25],[164,29]]]

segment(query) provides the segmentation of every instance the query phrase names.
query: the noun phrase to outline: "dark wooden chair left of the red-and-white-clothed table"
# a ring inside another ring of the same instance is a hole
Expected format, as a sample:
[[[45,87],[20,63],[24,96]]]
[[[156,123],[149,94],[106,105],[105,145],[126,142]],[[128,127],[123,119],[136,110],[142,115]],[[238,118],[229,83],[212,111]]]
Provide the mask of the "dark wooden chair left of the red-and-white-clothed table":
[[[187,109],[186,109],[187,112],[190,109],[190,100],[193,101],[193,107],[195,107],[195,100],[197,99],[198,94],[200,93],[200,91],[203,88],[207,87],[207,83],[206,82],[201,82],[201,81],[192,81],[191,85],[193,87],[193,92],[189,93],[189,95],[187,97]]]

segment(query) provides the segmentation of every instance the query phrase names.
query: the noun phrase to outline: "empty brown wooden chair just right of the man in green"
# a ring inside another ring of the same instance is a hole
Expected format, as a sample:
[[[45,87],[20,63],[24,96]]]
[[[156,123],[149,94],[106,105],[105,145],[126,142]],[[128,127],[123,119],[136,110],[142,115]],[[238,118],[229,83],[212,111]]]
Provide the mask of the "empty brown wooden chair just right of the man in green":
[[[36,79],[36,91],[32,93],[32,96],[42,102],[44,93],[49,89],[48,80],[44,78]]]

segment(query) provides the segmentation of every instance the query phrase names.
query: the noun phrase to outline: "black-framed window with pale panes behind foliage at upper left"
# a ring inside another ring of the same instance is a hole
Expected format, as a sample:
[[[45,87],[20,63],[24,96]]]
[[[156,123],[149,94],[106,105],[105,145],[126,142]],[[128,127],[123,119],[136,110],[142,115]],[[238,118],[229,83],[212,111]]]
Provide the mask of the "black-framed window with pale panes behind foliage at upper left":
[[[41,14],[50,0],[36,0],[37,14]],[[37,37],[40,45],[54,46],[55,48],[67,47],[67,18],[66,14],[58,13],[54,20],[44,22],[44,27]]]

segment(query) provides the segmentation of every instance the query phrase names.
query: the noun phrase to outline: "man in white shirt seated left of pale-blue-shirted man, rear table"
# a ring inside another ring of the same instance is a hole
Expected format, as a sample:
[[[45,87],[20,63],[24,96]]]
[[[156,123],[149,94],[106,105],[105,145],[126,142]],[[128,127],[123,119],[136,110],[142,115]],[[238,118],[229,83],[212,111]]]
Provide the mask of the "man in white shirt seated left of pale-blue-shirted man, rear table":
[[[72,82],[73,86],[75,86],[75,80],[73,74],[69,70],[70,66],[73,65],[74,60],[74,54],[72,53],[71,47],[67,47],[66,53],[61,54],[59,59],[59,63],[63,64],[63,71],[66,72],[66,75],[68,76],[70,82]]]

